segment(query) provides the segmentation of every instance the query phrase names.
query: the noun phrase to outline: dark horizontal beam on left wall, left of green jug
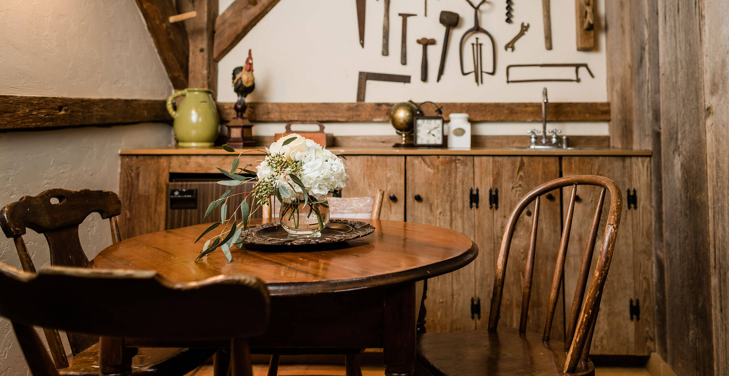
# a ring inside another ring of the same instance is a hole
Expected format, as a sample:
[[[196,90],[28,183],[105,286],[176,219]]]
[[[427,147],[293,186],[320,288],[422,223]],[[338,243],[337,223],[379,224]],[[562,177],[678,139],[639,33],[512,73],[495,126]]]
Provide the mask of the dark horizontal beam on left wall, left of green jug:
[[[0,95],[0,131],[170,120],[163,100]]]

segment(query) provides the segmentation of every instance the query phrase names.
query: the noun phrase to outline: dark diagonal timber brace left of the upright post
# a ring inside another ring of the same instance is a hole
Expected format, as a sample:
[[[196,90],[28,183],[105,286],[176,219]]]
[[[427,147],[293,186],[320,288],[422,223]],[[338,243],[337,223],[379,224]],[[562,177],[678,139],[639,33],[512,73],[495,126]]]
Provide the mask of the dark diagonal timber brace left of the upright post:
[[[152,40],[155,41],[157,53],[162,59],[172,86],[176,89],[187,88],[190,45],[182,23],[169,22],[170,16],[178,13],[173,2],[136,0],[136,3],[147,23],[149,34],[152,34]]]

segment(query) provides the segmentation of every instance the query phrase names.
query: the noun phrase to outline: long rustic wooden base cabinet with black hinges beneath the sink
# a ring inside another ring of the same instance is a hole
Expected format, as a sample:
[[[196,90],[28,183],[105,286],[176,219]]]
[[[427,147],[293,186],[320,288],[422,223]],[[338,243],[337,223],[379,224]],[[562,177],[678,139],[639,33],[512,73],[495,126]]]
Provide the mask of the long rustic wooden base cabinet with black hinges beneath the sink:
[[[504,225],[524,193],[547,180],[572,174],[599,174],[615,180],[623,191],[623,217],[591,352],[644,356],[653,350],[650,152],[387,148],[332,151],[346,156],[351,180],[341,192],[343,197],[369,196],[383,189],[381,218],[455,229],[478,245],[480,253],[472,264],[429,280],[428,331],[486,329]],[[125,210],[120,222],[124,237],[165,228],[171,174],[216,173],[215,166],[229,166],[235,158],[222,150],[122,150],[122,154],[120,190]],[[246,154],[241,164],[260,158]],[[531,331],[541,332],[545,325],[548,291],[566,212],[563,204],[567,200],[563,197],[570,193],[570,189],[557,190],[542,200],[529,312]],[[598,193],[597,188],[590,187],[577,191],[580,200],[575,205],[561,304],[555,312],[555,339],[564,339],[565,317],[572,306]],[[534,208],[529,207],[528,211],[531,210]],[[601,230],[606,216],[602,217]],[[503,325],[518,326],[530,226],[531,213],[526,212],[515,230],[507,264],[500,321]]]

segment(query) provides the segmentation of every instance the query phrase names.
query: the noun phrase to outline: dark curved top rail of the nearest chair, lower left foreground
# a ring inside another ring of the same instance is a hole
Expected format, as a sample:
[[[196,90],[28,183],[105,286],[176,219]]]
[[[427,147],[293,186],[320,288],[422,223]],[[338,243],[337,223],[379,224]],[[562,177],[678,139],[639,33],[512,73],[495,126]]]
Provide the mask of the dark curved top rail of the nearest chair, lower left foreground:
[[[66,299],[82,287],[93,310]],[[0,263],[0,289],[0,315],[10,321],[95,336],[226,340],[262,334],[268,322],[268,290],[252,275],[172,283],[152,271],[47,266],[32,274]],[[191,325],[190,318],[214,320]]]

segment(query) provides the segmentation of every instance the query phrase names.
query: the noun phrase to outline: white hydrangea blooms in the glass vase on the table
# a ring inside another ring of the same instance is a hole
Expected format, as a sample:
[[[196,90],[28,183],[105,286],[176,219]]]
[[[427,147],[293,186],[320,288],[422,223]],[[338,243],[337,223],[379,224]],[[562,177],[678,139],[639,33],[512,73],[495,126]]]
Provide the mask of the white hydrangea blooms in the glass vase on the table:
[[[296,137],[296,139],[283,145],[284,141],[291,137]],[[274,187],[283,186],[289,192],[293,190],[292,193],[298,199],[304,199],[304,191],[289,176],[292,169],[286,168],[281,172],[274,172],[271,169],[270,161],[271,158],[276,158],[274,155],[283,156],[286,161],[300,164],[300,169],[297,169],[297,177],[303,183],[309,196],[313,196],[315,199],[323,199],[327,193],[344,188],[349,179],[346,166],[338,156],[299,134],[281,137],[270,145],[269,150],[271,155],[257,167],[258,180],[260,182],[276,180]]]

